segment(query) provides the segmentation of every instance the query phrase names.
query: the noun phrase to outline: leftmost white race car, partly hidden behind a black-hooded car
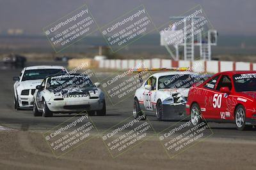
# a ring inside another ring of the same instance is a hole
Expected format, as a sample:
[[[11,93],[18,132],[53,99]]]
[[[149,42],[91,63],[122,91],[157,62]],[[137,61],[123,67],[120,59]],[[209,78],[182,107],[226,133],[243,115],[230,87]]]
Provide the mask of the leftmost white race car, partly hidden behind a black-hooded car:
[[[13,77],[15,110],[33,108],[36,85],[40,85],[46,76],[58,73],[67,73],[67,69],[63,66],[24,67],[19,77]]]

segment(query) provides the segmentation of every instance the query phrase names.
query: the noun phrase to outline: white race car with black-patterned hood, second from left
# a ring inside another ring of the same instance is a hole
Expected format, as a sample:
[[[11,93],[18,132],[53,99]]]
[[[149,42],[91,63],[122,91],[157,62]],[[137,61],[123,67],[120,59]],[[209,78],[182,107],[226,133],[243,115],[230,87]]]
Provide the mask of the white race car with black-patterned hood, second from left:
[[[99,83],[93,84],[86,75],[49,76],[36,86],[34,116],[52,117],[52,113],[95,112],[106,115],[104,93]]]

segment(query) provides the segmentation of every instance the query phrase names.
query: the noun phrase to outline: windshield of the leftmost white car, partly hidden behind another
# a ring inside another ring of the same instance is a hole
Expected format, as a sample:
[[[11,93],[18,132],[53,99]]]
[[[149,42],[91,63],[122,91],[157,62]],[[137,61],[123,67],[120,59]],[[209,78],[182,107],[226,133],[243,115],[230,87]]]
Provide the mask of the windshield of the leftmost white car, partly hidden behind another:
[[[25,71],[21,81],[44,79],[51,74],[65,73],[64,69],[30,69]]]

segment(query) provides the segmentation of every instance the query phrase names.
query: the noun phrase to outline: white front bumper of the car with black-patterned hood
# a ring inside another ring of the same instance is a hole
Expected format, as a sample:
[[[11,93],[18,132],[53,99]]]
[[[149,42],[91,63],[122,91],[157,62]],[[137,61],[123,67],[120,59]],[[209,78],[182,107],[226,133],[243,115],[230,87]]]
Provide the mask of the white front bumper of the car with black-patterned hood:
[[[102,110],[103,100],[91,99],[90,101],[49,101],[47,102],[49,110],[53,112],[79,112],[79,111],[97,111]]]

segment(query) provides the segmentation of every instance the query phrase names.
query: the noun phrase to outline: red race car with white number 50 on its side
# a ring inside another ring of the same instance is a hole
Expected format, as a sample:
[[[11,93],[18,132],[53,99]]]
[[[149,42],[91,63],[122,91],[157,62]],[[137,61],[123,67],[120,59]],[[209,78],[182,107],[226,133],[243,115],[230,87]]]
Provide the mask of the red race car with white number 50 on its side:
[[[186,113],[198,125],[235,122],[239,130],[256,125],[256,71],[226,71],[189,90]]]

